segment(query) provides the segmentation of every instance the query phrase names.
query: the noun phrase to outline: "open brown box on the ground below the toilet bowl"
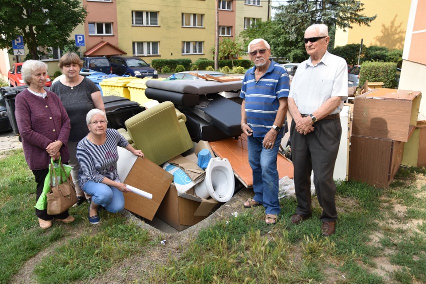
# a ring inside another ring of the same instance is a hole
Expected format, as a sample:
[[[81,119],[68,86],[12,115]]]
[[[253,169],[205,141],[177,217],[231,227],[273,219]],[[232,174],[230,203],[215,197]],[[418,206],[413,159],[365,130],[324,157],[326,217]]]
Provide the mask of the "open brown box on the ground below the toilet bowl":
[[[186,192],[184,196],[190,199],[178,196],[172,183],[155,215],[178,231],[204,220],[219,205],[212,198],[202,199],[195,196],[193,189]]]

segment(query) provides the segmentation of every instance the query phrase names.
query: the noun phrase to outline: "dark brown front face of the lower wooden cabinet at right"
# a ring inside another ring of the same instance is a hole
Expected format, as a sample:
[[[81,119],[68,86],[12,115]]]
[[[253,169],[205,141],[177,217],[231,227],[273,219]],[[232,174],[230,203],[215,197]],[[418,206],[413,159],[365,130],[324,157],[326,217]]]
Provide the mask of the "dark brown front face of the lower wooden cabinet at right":
[[[387,188],[393,141],[355,135],[350,141],[349,180]]]

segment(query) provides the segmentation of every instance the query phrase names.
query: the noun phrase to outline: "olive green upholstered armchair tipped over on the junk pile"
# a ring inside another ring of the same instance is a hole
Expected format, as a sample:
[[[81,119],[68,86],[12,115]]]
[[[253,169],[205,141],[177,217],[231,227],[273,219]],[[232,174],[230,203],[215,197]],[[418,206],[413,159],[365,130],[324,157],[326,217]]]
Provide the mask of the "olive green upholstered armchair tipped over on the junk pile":
[[[192,148],[185,121],[173,103],[165,101],[130,117],[124,124],[134,147],[160,165]]]

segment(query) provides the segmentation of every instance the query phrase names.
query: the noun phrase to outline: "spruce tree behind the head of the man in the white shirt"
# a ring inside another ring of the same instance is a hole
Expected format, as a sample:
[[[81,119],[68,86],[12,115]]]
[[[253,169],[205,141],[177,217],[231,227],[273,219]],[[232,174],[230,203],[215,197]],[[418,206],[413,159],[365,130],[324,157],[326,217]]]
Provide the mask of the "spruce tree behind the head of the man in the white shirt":
[[[361,14],[363,5],[359,0],[287,0],[275,8],[275,19],[283,23],[290,39],[301,40],[305,29],[314,23],[343,30],[351,28],[351,24],[369,26],[376,16]]]

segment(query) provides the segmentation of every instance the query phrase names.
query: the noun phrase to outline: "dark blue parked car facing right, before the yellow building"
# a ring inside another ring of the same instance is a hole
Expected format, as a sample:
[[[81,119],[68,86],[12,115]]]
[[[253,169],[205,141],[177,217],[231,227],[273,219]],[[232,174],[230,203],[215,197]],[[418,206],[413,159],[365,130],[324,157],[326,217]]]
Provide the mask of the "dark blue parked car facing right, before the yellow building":
[[[109,58],[112,73],[117,75],[130,75],[133,77],[158,78],[157,71],[150,67],[148,63],[135,56],[111,56]]]

